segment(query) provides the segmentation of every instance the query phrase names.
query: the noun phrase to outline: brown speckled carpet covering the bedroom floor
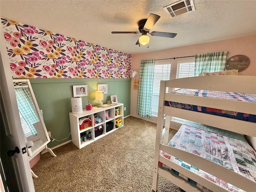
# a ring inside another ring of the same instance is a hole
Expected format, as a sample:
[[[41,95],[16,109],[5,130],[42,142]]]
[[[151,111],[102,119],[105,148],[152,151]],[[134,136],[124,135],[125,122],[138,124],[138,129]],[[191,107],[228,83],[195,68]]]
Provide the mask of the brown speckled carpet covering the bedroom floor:
[[[152,192],[155,136],[156,124],[130,116],[80,150],[70,142],[57,157],[44,153],[32,168],[36,192]],[[160,176],[158,192],[182,190]]]

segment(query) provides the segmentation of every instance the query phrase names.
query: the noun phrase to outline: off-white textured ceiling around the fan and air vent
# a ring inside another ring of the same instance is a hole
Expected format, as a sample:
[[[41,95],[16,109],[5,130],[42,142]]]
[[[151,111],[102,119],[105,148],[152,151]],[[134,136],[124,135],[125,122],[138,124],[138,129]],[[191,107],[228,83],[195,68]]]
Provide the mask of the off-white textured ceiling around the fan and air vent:
[[[195,12],[171,18],[164,6],[177,0],[0,0],[0,16],[129,54],[256,34],[256,0],[194,0]],[[161,18],[149,48],[135,45],[138,21],[150,13]]]

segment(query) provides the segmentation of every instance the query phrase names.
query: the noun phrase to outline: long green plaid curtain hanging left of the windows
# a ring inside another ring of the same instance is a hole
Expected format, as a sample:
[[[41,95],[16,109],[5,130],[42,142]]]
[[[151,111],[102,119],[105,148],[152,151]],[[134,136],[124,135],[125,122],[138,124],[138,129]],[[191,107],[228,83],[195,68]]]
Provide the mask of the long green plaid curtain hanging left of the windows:
[[[140,63],[137,115],[141,117],[151,118],[154,65],[155,60]]]

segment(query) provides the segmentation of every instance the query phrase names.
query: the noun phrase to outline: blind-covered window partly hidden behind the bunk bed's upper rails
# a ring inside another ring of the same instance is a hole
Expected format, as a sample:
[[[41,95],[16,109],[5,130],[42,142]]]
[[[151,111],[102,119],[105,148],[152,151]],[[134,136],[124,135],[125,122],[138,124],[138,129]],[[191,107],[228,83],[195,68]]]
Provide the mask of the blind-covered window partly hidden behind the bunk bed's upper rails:
[[[185,77],[194,77],[195,76],[195,61],[194,60],[186,60],[179,61],[177,66],[177,74],[176,78],[185,78]],[[185,119],[172,117],[172,120],[178,123],[185,122]]]

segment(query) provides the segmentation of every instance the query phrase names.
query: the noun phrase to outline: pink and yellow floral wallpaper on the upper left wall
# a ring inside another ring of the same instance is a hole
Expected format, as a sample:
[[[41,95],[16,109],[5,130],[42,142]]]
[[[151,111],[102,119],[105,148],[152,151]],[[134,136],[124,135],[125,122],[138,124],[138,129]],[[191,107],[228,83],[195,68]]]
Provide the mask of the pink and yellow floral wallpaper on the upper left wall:
[[[13,78],[130,78],[130,54],[6,18],[1,22]]]

